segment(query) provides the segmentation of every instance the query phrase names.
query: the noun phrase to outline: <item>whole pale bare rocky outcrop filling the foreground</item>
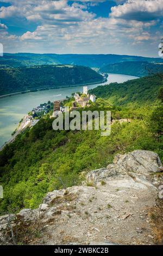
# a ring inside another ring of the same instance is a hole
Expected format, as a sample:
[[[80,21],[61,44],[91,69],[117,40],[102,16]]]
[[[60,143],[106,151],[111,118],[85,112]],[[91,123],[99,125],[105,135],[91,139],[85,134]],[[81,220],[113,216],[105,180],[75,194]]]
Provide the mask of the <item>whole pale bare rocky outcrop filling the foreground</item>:
[[[21,210],[14,219],[30,230],[39,228],[40,236],[30,237],[29,244],[153,244],[148,213],[158,197],[161,171],[154,152],[117,154],[107,168],[90,171],[83,186],[49,192],[38,209]],[[2,242],[14,219],[0,217]]]

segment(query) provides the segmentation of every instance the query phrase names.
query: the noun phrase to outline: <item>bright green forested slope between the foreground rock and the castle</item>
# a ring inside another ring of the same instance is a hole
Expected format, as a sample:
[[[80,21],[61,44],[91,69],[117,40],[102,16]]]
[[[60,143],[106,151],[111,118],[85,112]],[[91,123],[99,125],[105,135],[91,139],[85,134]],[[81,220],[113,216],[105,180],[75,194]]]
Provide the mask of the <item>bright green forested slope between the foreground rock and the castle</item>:
[[[98,98],[85,110],[111,111],[117,122],[110,136],[100,130],[54,131],[50,113],[18,135],[0,152],[1,213],[8,207],[35,208],[47,192],[80,184],[87,171],[108,165],[116,153],[152,150],[163,160],[162,85],[153,76],[93,90]],[[120,118],[131,122],[120,123]]]

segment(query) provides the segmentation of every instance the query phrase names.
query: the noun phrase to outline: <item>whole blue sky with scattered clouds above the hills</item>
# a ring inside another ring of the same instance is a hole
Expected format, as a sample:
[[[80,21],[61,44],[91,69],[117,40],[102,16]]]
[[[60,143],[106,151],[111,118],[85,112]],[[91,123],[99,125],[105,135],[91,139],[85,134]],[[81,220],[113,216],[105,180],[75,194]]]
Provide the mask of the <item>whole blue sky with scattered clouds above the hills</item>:
[[[158,56],[163,0],[0,0],[4,52]]]

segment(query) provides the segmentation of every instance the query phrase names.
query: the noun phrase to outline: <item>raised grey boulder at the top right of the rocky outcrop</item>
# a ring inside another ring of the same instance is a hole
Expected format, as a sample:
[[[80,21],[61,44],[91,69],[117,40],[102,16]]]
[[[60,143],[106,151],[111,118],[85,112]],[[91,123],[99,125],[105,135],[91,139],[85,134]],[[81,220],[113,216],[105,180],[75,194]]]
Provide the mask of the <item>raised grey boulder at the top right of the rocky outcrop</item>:
[[[86,182],[92,182],[96,185],[96,183],[105,178],[115,178],[130,174],[137,178],[137,182],[146,183],[145,180],[149,174],[160,171],[163,171],[163,168],[158,154],[152,151],[135,150],[123,155],[117,154],[113,164],[109,164],[107,168],[90,171],[86,176]],[[147,183],[145,185],[149,185]]]

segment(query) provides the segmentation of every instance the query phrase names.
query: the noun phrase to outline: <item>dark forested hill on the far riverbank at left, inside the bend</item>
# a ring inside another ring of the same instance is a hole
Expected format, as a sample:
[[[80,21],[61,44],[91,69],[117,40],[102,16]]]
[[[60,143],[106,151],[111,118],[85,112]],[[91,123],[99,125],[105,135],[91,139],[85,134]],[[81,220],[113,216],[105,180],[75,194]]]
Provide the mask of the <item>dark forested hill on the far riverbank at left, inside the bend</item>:
[[[103,81],[91,68],[70,65],[5,68],[0,78],[0,95]]]

